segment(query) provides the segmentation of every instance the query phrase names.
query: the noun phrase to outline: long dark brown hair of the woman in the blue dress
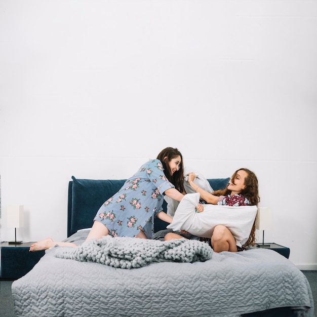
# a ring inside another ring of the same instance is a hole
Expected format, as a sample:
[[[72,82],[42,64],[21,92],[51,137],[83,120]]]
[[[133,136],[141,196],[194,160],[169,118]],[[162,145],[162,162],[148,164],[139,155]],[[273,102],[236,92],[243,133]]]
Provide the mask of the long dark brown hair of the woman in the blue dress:
[[[169,166],[169,162],[175,157],[180,156],[181,162],[179,164],[179,169],[173,175]],[[182,153],[174,147],[166,147],[163,149],[159,155],[156,157],[157,160],[160,160],[163,164],[164,174],[167,179],[175,186],[175,188],[184,192],[184,164],[183,164],[183,155]]]

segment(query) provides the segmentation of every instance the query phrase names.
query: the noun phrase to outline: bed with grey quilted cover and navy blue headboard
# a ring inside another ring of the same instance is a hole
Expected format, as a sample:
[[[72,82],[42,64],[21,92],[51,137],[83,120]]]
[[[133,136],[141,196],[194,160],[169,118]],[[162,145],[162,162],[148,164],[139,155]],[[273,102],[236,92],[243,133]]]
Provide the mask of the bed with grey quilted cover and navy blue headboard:
[[[216,190],[228,179],[208,181]],[[96,210],[124,182],[72,177],[65,241],[83,246]],[[155,219],[155,240],[162,240],[166,225]],[[47,250],[13,282],[17,316],[314,316],[305,275],[272,250],[212,252],[204,261],[121,268],[60,258],[66,249]]]

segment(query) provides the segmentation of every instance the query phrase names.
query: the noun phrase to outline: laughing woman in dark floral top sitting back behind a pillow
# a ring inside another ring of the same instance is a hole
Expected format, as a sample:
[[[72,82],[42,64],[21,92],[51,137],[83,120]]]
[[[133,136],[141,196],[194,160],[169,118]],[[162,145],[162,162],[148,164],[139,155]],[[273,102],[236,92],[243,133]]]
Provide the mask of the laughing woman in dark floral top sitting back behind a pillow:
[[[248,169],[240,169],[230,178],[230,182],[223,190],[217,190],[210,193],[194,183],[195,174],[188,173],[188,183],[190,187],[197,193],[200,193],[201,200],[207,204],[226,205],[226,206],[249,206],[258,205],[260,201],[258,180],[256,175]],[[176,211],[177,212],[177,211]],[[165,235],[164,240],[181,239],[182,235],[169,232]],[[230,251],[237,252],[238,248],[235,239],[230,230],[224,225],[217,225],[212,233],[211,239],[201,237],[201,241],[210,243],[215,252]],[[244,244],[244,248],[254,246],[255,244],[255,221],[253,223],[248,241]]]

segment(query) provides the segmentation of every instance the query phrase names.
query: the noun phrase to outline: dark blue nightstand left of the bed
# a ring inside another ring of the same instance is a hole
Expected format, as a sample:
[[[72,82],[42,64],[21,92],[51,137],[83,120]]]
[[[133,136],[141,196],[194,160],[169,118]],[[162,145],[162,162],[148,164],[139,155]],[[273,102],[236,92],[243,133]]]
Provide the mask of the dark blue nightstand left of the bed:
[[[1,280],[17,280],[30,271],[42,258],[45,251],[29,252],[33,242],[12,245],[1,243]]]

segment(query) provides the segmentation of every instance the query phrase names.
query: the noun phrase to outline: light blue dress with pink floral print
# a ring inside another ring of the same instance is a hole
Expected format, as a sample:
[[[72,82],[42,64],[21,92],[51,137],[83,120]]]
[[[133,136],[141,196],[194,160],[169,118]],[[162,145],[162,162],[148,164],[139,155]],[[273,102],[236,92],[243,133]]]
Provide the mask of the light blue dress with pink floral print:
[[[99,208],[94,220],[102,222],[112,236],[133,237],[144,229],[151,239],[154,217],[163,210],[163,193],[174,187],[161,161],[150,160]]]

